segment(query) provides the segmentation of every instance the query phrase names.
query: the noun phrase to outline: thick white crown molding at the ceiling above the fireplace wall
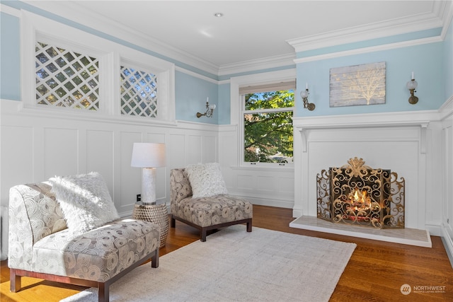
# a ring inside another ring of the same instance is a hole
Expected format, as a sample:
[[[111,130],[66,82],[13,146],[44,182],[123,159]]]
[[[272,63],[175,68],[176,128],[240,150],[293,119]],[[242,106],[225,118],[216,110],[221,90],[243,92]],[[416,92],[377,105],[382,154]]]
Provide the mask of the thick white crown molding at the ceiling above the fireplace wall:
[[[319,35],[310,35],[287,40],[287,43],[294,47],[295,52],[316,50],[323,47],[345,45],[353,42],[372,40],[389,35],[400,35],[413,33],[420,30],[440,28],[445,25],[442,21],[442,12],[445,6],[443,1],[434,1],[432,11],[407,18],[398,18],[392,21],[371,23],[365,26],[357,26],[346,30],[335,30]],[[445,27],[445,26],[444,26]]]

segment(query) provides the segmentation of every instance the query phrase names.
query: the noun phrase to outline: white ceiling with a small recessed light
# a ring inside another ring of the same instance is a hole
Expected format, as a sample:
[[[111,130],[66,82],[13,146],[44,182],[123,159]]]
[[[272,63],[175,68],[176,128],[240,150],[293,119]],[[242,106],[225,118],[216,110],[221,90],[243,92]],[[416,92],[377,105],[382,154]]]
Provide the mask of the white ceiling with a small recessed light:
[[[338,44],[338,37],[354,42],[351,37],[438,28],[446,18],[445,1],[27,2],[98,30],[102,24],[101,30],[115,37],[139,37],[151,50],[159,45],[166,54],[214,69],[294,59],[295,45],[313,48],[316,40]]]

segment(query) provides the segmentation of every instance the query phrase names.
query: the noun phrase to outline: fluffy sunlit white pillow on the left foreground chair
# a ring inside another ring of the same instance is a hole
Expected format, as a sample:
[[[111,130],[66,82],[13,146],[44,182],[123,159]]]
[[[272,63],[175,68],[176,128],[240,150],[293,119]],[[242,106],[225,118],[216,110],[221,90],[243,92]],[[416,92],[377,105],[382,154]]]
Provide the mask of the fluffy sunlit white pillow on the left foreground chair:
[[[72,233],[83,233],[120,218],[101,174],[55,176],[49,181]]]

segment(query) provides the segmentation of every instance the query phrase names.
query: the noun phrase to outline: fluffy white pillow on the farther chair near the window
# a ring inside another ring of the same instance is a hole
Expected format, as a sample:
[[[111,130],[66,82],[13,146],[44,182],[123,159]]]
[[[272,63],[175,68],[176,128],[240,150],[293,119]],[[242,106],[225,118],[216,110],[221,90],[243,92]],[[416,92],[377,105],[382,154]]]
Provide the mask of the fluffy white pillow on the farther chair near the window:
[[[193,198],[228,194],[219,163],[188,165],[185,168]]]

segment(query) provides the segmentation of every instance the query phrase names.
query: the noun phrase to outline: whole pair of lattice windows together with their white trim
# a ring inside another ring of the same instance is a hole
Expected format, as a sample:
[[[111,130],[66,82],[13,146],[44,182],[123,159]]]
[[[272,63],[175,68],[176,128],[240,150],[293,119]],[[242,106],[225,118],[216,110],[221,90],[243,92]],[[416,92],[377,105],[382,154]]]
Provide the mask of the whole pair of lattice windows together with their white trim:
[[[21,28],[24,108],[174,122],[175,64],[138,50],[141,41],[123,45],[28,11]]]

